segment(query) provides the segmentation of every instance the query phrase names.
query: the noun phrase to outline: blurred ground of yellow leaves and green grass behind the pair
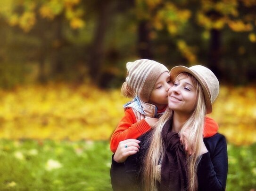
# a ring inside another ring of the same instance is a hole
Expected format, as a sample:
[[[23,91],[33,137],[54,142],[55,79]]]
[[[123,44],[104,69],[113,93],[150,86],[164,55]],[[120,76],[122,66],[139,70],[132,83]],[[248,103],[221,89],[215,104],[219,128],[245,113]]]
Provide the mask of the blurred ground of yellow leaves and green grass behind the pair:
[[[0,90],[0,191],[111,191],[120,90],[48,84]],[[227,191],[256,190],[256,89],[222,87],[211,116],[228,140]]]

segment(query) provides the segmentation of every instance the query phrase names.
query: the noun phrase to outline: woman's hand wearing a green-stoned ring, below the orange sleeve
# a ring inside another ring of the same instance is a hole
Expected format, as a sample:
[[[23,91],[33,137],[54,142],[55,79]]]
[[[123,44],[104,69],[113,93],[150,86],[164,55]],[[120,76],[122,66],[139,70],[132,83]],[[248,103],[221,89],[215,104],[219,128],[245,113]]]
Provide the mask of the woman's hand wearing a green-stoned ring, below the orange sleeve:
[[[113,159],[118,163],[124,162],[128,156],[139,152],[139,143],[140,141],[137,139],[126,139],[124,141],[120,141]]]

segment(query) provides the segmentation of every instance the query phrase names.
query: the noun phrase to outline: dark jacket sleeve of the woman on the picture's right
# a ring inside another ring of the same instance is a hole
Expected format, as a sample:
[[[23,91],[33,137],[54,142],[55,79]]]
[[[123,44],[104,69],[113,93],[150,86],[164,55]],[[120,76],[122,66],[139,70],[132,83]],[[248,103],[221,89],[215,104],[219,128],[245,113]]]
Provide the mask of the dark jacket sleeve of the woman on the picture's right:
[[[225,191],[228,173],[227,143],[224,136],[217,140],[213,138],[210,142],[206,144],[209,151],[202,155],[198,164],[198,190]]]

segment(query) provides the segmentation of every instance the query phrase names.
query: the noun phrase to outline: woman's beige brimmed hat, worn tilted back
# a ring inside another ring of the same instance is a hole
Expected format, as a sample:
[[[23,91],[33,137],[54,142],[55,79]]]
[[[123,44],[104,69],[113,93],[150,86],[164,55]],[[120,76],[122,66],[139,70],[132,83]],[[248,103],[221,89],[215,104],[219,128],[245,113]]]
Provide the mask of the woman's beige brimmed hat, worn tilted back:
[[[171,69],[171,76],[175,79],[180,73],[187,72],[194,76],[201,84],[206,101],[207,114],[212,113],[212,104],[219,94],[219,81],[214,73],[201,65],[191,66],[187,68],[185,66],[176,66]]]

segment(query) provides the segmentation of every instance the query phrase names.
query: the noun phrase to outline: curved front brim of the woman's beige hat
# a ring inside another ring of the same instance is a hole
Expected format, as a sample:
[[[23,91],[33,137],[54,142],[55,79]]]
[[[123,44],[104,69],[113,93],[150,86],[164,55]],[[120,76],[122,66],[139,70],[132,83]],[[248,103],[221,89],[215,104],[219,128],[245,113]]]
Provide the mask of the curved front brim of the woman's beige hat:
[[[182,72],[187,72],[187,73],[191,74],[198,80],[199,84],[201,84],[201,86],[203,88],[203,92],[204,92],[205,101],[206,101],[206,114],[211,113],[213,110],[213,107],[212,107],[212,103],[211,103],[210,93],[208,91],[208,87],[207,87],[207,84],[205,83],[205,81],[201,78],[200,75],[198,75],[198,73],[196,71],[193,71],[185,66],[173,67],[173,69],[171,69],[171,71],[170,71],[170,75],[171,75],[172,79],[176,79],[176,77],[179,74],[181,74]]]

